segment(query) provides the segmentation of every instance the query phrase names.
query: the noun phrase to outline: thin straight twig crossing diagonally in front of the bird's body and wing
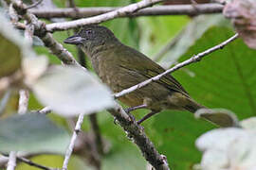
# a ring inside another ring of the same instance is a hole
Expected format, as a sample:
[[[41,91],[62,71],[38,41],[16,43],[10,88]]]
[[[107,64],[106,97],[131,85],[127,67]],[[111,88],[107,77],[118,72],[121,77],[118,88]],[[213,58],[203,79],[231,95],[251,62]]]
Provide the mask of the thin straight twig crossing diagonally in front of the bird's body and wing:
[[[191,64],[191,63],[193,63],[193,62],[197,62],[197,61],[199,61],[200,59],[202,59],[203,57],[209,55],[210,53],[212,53],[212,52],[214,52],[214,51],[216,51],[216,50],[218,50],[218,49],[224,48],[225,45],[227,45],[229,42],[234,41],[234,40],[237,39],[237,38],[238,38],[238,34],[235,34],[234,36],[232,36],[231,38],[229,38],[227,41],[221,42],[220,44],[215,45],[215,46],[213,46],[213,47],[207,49],[207,50],[204,51],[204,52],[201,52],[201,53],[199,53],[199,54],[197,54],[197,55],[194,55],[194,56],[192,56],[191,59],[187,59],[187,60],[185,60],[185,61],[183,61],[183,62],[181,62],[181,63],[179,63],[179,64],[176,64],[176,65],[175,65],[174,67],[172,67],[171,69],[168,69],[168,70],[166,70],[165,72],[163,72],[163,73],[161,73],[161,74],[159,74],[159,75],[157,75],[157,76],[154,76],[154,77],[152,77],[152,78],[150,78],[150,79],[147,79],[147,80],[145,80],[145,81],[143,81],[143,82],[141,82],[141,83],[139,83],[139,84],[137,84],[137,85],[135,85],[135,86],[132,86],[132,87],[130,87],[130,88],[128,88],[128,89],[125,89],[125,90],[123,90],[123,91],[121,91],[121,92],[119,92],[119,93],[115,93],[115,94],[114,94],[114,97],[115,97],[115,98],[119,98],[120,96],[123,96],[123,95],[125,95],[125,94],[127,94],[127,93],[132,93],[132,92],[136,91],[137,89],[140,89],[140,88],[146,86],[147,84],[149,84],[149,83],[151,83],[151,82],[153,82],[153,81],[159,80],[162,76],[165,76],[165,75],[167,75],[167,74],[170,74],[170,73],[174,72],[175,70],[177,70],[177,69],[179,69],[179,68],[182,68],[182,67],[184,67],[184,66],[186,66],[186,65],[189,65],[189,64]]]

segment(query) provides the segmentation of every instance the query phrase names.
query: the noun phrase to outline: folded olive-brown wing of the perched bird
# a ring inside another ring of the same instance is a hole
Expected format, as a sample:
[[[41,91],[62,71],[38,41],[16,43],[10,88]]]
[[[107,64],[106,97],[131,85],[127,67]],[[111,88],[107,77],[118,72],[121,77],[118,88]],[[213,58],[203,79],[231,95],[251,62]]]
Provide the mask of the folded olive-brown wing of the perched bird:
[[[147,58],[145,55],[129,46],[123,45],[119,48],[118,51],[119,59],[122,60],[121,62],[119,62],[122,64],[121,66],[126,67],[129,70],[134,70],[138,72],[140,75],[145,76],[146,79],[152,78],[165,72],[165,69],[163,69],[155,61]],[[161,84],[165,88],[170,89],[171,91],[183,93],[186,96],[189,96],[189,94],[185,91],[181,84],[174,78],[174,76],[165,75],[162,76],[156,82]]]

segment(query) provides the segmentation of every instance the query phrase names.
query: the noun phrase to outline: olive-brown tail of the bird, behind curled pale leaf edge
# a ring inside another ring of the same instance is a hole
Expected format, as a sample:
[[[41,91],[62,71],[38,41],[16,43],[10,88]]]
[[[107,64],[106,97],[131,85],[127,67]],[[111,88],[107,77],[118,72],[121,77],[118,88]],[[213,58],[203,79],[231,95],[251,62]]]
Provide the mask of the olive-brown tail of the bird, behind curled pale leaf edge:
[[[192,98],[187,98],[188,102],[187,104],[183,107],[185,110],[189,110],[192,113],[195,113],[196,110],[200,109],[207,109],[205,106],[198,104]],[[211,111],[209,111],[211,112]],[[230,120],[229,116],[225,114],[210,114],[210,113],[205,113],[200,115],[200,117],[210,121],[211,123],[220,126],[220,127],[233,127],[233,121]]]

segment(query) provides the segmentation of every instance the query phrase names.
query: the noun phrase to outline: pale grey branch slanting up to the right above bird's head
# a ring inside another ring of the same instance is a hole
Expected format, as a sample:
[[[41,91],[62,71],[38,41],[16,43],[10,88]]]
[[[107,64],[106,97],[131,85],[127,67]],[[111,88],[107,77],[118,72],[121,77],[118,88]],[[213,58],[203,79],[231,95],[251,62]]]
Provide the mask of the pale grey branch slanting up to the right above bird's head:
[[[123,7],[123,8],[118,8],[116,10],[90,17],[90,18],[83,18],[83,19],[78,19],[75,21],[68,21],[68,22],[63,22],[63,23],[54,23],[54,24],[49,24],[46,25],[46,30],[49,32],[53,32],[56,30],[67,30],[67,29],[72,29],[78,26],[85,26],[85,25],[92,25],[92,24],[100,24],[105,21],[112,20],[114,18],[122,17],[128,15],[128,13],[134,13],[140,8],[147,8],[150,6],[153,6],[157,3],[162,2],[163,0],[142,0],[139,1],[135,4],[131,4],[129,6]]]

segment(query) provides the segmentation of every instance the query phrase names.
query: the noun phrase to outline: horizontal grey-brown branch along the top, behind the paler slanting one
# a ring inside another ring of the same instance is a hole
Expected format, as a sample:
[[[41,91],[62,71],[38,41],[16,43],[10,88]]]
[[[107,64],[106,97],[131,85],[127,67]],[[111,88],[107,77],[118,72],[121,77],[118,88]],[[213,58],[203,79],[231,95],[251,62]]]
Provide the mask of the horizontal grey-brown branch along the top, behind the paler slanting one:
[[[196,7],[196,8],[194,8]],[[100,15],[116,10],[113,7],[101,8],[49,8],[49,9],[30,9],[29,11],[39,18],[85,18]],[[223,6],[220,4],[198,4],[198,5],[173,5],[157,6],[153,8],[142,8],[134,13],[127,13],[121,17],[137,16],[158,16],[158,15],[198,15],[221,13]]]

